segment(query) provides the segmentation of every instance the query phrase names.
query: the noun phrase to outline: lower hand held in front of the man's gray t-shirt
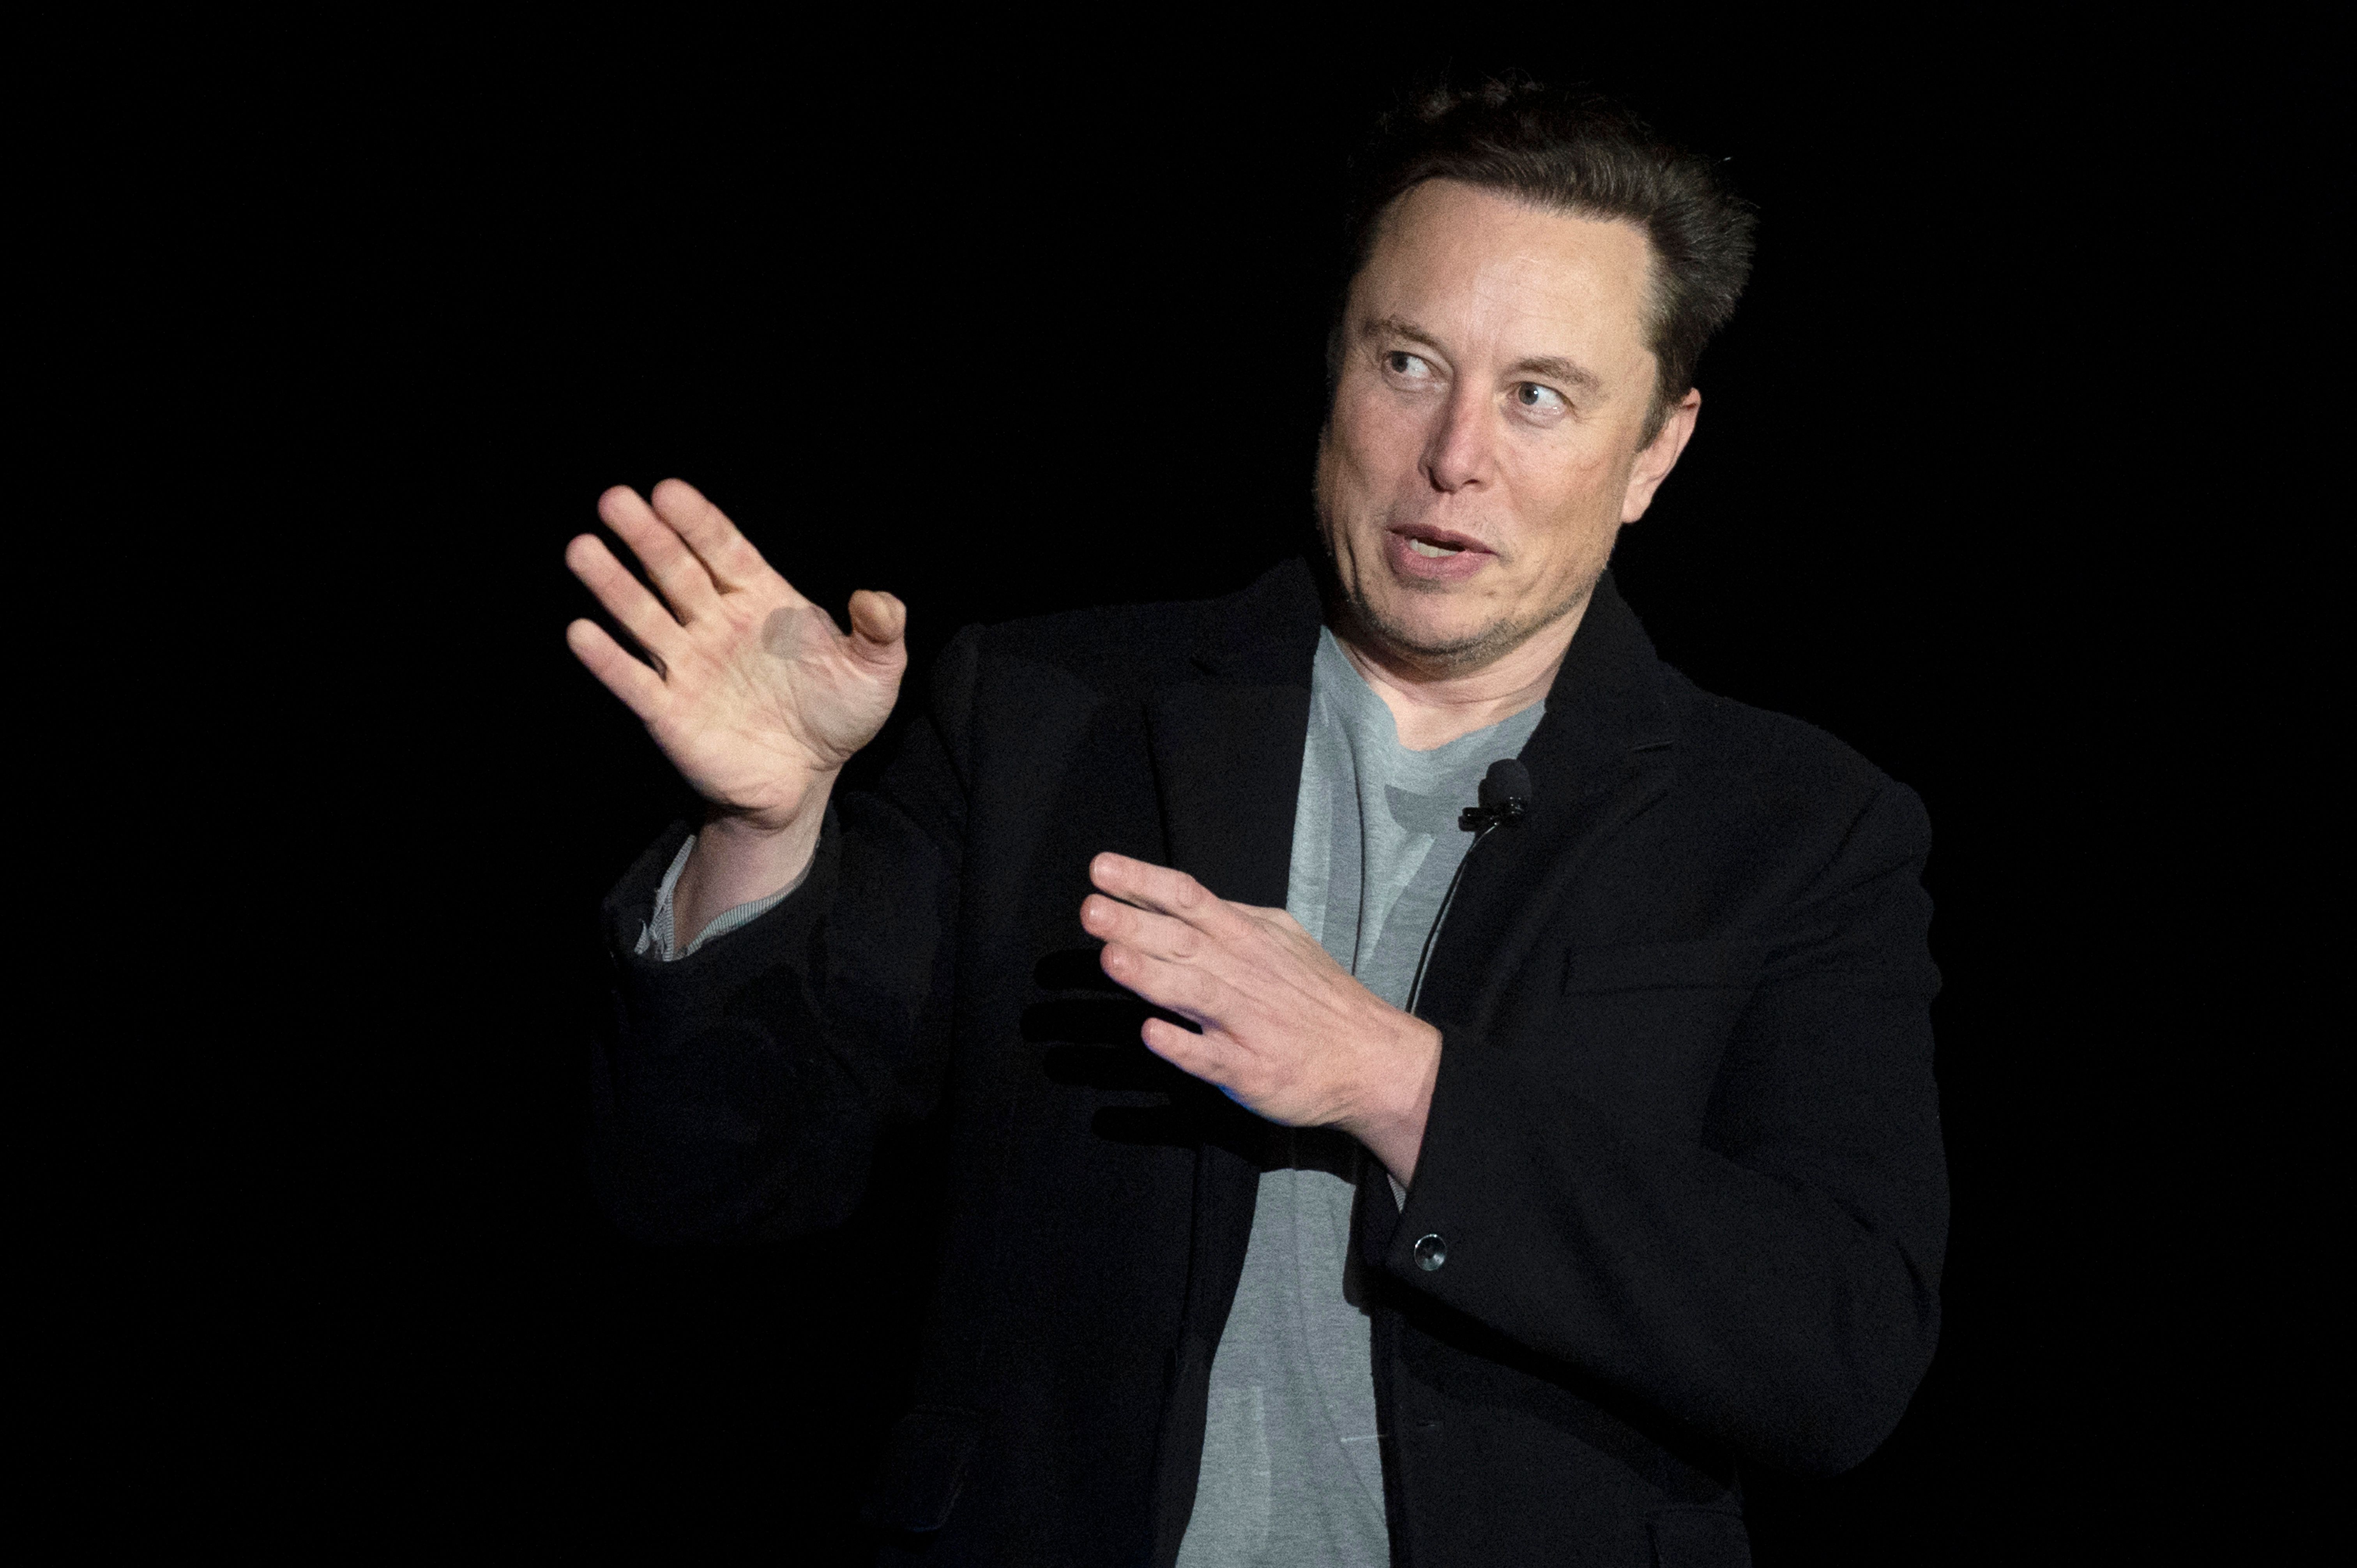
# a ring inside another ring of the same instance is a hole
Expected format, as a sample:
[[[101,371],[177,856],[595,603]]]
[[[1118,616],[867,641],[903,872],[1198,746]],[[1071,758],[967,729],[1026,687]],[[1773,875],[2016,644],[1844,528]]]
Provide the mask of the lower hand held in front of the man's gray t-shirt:
[[[1289,1127],[1341,1127],[1407,1186],[1440,1030],[1358,983],[1285,910],[1228,903],[1129,856],[1089,863],[1080,924],[1115,981],[1202,1028],[1146,1021],[1146,1049]]]

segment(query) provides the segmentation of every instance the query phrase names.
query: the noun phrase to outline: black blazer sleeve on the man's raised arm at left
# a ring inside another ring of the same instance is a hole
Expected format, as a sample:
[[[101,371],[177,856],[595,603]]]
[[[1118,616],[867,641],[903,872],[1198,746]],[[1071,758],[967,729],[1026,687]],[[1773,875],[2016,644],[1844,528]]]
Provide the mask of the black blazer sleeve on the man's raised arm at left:
[[[799,889],[681,957],[634,953],[686,837],[608,894],[592,1167],[641,1240],[775,1240],[846,1221],[877,1134],[940,1094],[981,634],[959,632],[874,790],[837,797]]]

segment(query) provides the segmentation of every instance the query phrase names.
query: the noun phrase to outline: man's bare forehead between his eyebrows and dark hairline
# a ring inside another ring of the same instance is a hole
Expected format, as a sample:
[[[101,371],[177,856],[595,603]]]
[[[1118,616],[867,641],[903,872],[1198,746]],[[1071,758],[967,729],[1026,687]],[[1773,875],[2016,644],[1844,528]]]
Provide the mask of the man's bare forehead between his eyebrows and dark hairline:
[[[1384,215],[1353,285],[1360,314],[1454,330],[1563,337],[1589,351],[1643,347],[1652,243],[1624,219],[1577,217],[1454,179],[1428,179]]]

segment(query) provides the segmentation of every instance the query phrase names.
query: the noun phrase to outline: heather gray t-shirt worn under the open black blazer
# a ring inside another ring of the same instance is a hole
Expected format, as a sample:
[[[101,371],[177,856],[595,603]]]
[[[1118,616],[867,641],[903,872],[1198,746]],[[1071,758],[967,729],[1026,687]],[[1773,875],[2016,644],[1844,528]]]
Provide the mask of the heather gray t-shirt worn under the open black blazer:
[[[1544,710],[1412,752],[1334,634],[1318,634],[1285,908],[1386,1002],[1407,1004],[1424,936],[1473,842],[1457,813],[1492,762],[1520,755]],[[1351,1247],[1365,1153],[1332,1129],[1270,1127],[1266,1158],[1211,1358],[1178,1568],[1381,1568],[1391,1535]]]

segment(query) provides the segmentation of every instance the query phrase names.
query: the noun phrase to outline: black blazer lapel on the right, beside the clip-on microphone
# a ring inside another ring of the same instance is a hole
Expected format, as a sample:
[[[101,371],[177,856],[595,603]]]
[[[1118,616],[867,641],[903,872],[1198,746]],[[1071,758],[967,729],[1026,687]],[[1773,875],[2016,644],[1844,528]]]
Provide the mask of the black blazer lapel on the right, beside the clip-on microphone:
[[[1523,747],[1530,811],[1466,863],[1417,1012],[1475,1030],[1490,1021],[1596,844],[1669,788],[1673,747],[1662,660],[1605,573]]]

